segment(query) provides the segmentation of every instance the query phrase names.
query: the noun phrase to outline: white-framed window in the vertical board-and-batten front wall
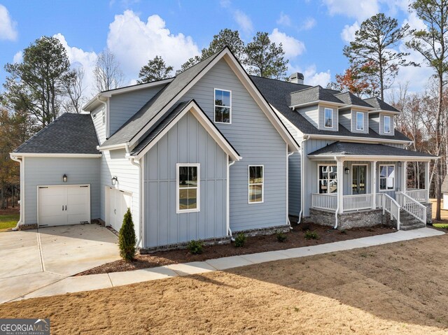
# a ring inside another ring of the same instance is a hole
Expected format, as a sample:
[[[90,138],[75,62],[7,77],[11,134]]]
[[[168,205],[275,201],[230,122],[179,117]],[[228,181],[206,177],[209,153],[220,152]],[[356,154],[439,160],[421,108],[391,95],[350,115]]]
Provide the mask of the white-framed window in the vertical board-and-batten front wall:
[[[200,211],[200,164],[176,164],[177,213]]]

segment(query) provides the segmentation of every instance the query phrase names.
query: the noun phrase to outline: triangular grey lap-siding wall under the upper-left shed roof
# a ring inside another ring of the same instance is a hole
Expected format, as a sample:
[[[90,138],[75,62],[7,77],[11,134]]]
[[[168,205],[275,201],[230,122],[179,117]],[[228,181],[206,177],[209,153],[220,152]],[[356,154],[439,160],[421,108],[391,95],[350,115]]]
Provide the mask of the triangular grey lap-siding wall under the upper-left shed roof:
[[[163,85],[114,95],[109,100],[109,129],[115,133],[141,107],[157,94]]]

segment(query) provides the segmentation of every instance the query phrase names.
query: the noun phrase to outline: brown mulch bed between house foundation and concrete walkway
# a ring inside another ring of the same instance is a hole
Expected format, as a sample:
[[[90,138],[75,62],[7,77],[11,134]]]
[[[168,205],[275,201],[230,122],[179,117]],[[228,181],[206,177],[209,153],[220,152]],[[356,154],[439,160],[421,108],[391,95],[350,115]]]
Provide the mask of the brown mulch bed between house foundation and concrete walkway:
[[[318,240],[307,240],[304,238],[305,231],[316,231]],[[234,243],[225,245],[210,245],[204,247],[201,255],[191,255],[186,249],[158,251],[148,255],[137,255],[134,262],[118,260],[97,266],[96,268],[78,273],[76,276],[85,276],[97,273],[132,271],[137,269],[153,268],[177,263],[201,262],[207,259],[229,257],[236,255],[246,255],[255,252],[265,252],[274,250],[285,250],[299,248],[310,245],[346,241],[353,238],[388,234],[395,229],[384,226],[370,228],[355,228],[344,231],[324,227],[320,224],[299,224],[293,225],[293,230],[287,233],[286,241],[279,242],[276,235],[248,237],[244,248],[235,248]]]

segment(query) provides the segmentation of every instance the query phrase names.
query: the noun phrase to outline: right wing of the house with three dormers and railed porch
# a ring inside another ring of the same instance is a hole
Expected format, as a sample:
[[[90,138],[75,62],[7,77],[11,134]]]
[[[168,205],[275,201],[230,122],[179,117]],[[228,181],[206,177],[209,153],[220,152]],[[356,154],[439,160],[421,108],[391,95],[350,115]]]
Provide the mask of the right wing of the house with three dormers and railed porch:
[[[412,141],[395,129],[400,111],[378,98],[252,77],[300,145],[289,157],[289,213],[332,227],[366,227],[390,213],[398,229],[430,221],[429,162],[406,150]],[[407,190],[407,162],[424,162],[425,189]]]

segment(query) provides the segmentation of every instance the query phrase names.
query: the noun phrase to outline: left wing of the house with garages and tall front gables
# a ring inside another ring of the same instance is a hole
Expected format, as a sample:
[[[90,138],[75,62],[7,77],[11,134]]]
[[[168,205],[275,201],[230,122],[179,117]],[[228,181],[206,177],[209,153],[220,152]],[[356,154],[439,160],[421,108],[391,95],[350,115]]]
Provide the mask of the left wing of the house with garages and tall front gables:
[[[141,249],[289,229],[299,145],[228,48],[175,78],[97,94],[20,145],[19,224],[132,211]]]

